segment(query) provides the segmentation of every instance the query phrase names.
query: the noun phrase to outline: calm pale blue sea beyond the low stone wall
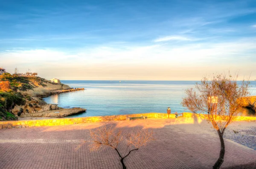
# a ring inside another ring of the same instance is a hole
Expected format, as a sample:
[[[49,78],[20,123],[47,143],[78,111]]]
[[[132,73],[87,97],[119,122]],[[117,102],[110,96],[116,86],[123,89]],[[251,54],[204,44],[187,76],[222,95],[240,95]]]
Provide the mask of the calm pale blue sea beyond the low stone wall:
[[[186,96],[185,90],[194,87],[197,81],[78,81],[62,80],[70,87],[85,90],[61,93],[44,98],[47,103],[59,107],[81,107],[86,113],[72,117],[98,115],[120,115],[134,113],[172,113],[189,111],[180,103]],[[250,83],[250,92],[256,95],[256,82]],[[69,116],[70,117],[70,116]]]

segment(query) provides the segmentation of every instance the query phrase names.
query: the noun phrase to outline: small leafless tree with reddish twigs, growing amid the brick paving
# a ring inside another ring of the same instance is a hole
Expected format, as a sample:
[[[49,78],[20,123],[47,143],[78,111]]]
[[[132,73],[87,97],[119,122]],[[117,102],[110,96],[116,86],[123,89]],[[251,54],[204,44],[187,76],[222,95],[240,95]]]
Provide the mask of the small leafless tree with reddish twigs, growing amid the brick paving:
[[[132,151],[138,150],[141,146],[145,146],[151,141],[154,141],[153,131],[138,129],[132,130],[131,132],[125,132],[113,127],[113,125],[105,125],[95,130],[90,130],[90,136],[92,141],[82,140],[82,143],[76,147],[76,150],[86,142],[91,143],[90,151],[96,151],[109,146],[119,155],[123,169],[126,169],[124,159],[130,155]],[[125,152],[120,151],[120,144],[125,144]]]

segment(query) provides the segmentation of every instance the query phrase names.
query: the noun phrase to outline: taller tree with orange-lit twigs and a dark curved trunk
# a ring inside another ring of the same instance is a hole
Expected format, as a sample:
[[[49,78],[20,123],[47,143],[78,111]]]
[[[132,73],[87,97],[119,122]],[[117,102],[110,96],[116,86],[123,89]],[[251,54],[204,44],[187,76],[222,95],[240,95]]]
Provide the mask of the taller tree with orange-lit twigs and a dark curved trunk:
[[[197,83],[195,88],[186,90],[187,97],[182,101],[184,107],[211,121],[218,132],[221,151],[213,169],[219,169],[224,161],[224,131],[243,107],[242,98],[249,95],[249,82],[245,80],[241,83],[237,82],[237,77],[237,75],[232,77],[219,74],[211,77],[210,81],[204,77],[201,84]],[[207,113],[207,115],[201,113]]]

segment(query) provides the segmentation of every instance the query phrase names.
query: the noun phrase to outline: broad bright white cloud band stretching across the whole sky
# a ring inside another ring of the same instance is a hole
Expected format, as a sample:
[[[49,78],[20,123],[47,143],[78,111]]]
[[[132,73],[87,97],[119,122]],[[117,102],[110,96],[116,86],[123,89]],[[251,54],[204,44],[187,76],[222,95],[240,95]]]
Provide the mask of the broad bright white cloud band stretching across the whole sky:
[[[1,60],[9,64],[33,65],[41,63],[44,65],[93,65],[93,64],[141,64],[154,65],[171,62],[172,64],[195,64],[200,62],[231,62],[243,56],[255,56],[256,39],[243,39],[236,42],[219,43],[193,43],[173,46],[162,45],[141,45],[133,46],[128,44],[117,44],[112,46],[98,46],[84,48],[69,54],[64,51],[54,50],[15,50],[0,53]],[[238,64],[238,63],[237,63]]]

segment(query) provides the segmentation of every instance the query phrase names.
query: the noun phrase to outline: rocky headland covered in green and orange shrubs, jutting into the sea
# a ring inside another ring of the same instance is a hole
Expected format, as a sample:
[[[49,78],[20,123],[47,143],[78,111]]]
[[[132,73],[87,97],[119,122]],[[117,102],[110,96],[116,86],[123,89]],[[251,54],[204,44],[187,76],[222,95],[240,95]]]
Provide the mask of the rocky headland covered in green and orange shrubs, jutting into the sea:
[[[54,93],[62,93],[81,89],[72,89],[68,85],[62,83],[52,83],[46,79],[35,76],[13,76],[4,73],[0,76],[0,120],[17,120],[18,116],[25,116],[36,113],[39,117],[63,117],[65,115],[80,113],[85,109],[63,110],[55,104],[47,104],[42,97],[49,96]],[[64,112],[61,114],[52,113]],[[44,113],[43,113],[44,112]],[[55,115],[55,116],[54,116]]]

